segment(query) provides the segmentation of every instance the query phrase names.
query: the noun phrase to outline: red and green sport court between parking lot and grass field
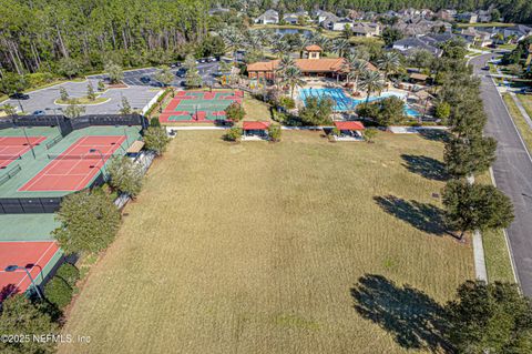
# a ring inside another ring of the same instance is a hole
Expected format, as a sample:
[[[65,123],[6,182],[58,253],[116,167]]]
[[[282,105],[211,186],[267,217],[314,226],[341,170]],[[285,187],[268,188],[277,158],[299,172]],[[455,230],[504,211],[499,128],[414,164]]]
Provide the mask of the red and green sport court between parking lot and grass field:
[[[242,103],[243,91],[178,91],[158,117],[161,123],[225,120],[225,109]]]

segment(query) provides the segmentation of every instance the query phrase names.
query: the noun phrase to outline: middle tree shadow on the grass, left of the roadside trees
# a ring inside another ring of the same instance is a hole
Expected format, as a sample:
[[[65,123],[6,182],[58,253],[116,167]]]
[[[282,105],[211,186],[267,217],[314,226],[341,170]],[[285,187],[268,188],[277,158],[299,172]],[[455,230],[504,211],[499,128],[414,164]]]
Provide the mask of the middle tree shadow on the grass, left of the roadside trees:
[[[374,196],[374,200],[383,211],[420,231],[436,235],[447,233],[443,211],[436,205],[413,200],[407,201],[395,195]]]

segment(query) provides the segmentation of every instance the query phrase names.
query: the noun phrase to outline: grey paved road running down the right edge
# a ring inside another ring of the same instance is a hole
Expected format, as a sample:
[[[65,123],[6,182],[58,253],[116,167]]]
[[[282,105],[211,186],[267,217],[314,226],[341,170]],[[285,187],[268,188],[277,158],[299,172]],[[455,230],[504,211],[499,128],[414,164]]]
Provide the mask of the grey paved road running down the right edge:
[[[482,99],[488,114],[485,133],[499,142],[493,164],[495,182],[515,208],[515,220],[508,229],[508,235],[518,280],[523,293],[532,297],[532,160],[493,81],[488,72],[480,70],[490,58],[491,54],[480,55],[471,63],[482,80]]]

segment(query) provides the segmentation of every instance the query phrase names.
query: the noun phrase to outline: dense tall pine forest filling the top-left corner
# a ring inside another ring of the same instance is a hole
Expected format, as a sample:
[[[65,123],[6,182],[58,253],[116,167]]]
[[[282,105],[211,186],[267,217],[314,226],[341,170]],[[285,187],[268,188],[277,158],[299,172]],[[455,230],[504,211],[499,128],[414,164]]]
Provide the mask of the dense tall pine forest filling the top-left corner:
[[[0,0],[0,64],[18,73],[167,62],[207,33],[205,0]]]

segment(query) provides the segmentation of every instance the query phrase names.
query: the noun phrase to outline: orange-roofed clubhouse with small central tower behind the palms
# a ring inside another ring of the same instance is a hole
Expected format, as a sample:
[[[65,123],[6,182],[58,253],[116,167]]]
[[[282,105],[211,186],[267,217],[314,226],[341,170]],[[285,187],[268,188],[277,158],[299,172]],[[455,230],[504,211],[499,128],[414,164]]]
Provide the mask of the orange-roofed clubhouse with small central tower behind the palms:
[[[323,49],[313,44],[305,48],[305,59],[295,59],[295,64],[301,70],[305,77],[323,77],[342,79],[347,70],[345,68],[344,58],[321,58]],[[249,79],[267,79],[274,80],[276,70],[280,60],[259,61],[247,65]],[[377,70],[368,62],[369,70]]]

